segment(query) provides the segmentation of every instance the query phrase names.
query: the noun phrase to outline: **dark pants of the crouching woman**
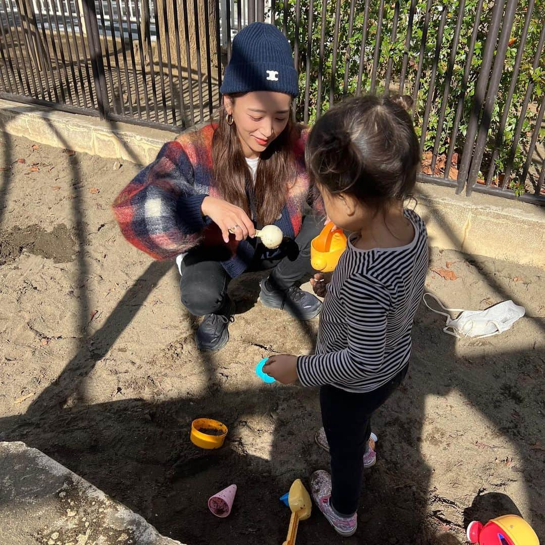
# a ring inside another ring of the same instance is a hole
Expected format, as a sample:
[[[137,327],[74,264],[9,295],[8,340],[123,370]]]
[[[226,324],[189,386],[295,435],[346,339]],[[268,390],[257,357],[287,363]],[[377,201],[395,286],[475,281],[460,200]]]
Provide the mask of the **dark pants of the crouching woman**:
[[[323,226],[323,219],[305,216],[295,240],[282,243],[274,258],[262,258],[263,246],[257,244],[256,257],[248,272],[272,269],[270,279],[275,287],[293,286],[305,274],[311,274],[310,243]],[[220,313],[226,302],[231,277],[213,253],[213,249],[198,246],[187,252],[181,263],[181,302],[195,316]]]

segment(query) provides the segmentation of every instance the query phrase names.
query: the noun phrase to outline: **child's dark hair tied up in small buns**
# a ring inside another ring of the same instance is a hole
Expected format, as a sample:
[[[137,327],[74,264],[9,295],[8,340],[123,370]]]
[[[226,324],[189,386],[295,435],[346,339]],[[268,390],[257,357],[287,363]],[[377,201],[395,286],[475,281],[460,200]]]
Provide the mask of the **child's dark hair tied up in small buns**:
[[[408,95],[348,99],[320,117],[308,137],[311,179],[380,210],[411,197],[420,165]]]

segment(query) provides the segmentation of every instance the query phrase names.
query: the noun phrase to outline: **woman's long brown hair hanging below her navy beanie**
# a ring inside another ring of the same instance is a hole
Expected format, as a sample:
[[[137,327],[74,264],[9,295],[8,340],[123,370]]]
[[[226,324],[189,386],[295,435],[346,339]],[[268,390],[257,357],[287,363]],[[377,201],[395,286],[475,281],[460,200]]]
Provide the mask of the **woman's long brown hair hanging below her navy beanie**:
[[[237,96],[233,95],[233,100]],[[289,116],[286,128],[259,156],[256,185],[234,123],[227,123],[225,107],[220,108],[217,129],[212,140],[212,165],[216,187],[225,201],[242,208],[251,217],[248,193],[253,193],[256,220],[274,223],[286,204],[287,192],[295,181],[294,143],[298,128]]]

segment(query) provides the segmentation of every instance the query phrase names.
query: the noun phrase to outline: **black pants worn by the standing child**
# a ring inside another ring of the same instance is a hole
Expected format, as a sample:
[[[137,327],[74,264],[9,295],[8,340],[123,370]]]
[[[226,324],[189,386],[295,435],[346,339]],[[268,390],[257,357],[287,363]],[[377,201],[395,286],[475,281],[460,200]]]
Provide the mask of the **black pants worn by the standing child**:
[[[358,509],[371,415],[402,383],[408,367],[371,392],[352,393],[329,385],[320,388],[322,422],[331,456],[331,506],[343,516],[351,516]]]

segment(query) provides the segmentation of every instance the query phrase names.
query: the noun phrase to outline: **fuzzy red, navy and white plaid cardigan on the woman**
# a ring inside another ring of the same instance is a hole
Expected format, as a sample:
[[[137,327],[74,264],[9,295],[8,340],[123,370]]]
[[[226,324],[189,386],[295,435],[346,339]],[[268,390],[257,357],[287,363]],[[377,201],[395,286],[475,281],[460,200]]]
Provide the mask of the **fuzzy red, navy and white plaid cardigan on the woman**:
[[[231,258],[222,261],[232,278],[252,261],[254,247],[246,240],[225,244],[219,227],[201,211],[204,197],[219,197],[212,174],[212,138],[216,125],[187,131],[166,143],[155,161],[144,168],[117,196],[113,213],[124,237],[155,259],[174,258],[199,244],[227,246]],[[295,142],[296,178],[275,225],[295,238],[306,203],[312,203],[305,168],[302,129]]]

